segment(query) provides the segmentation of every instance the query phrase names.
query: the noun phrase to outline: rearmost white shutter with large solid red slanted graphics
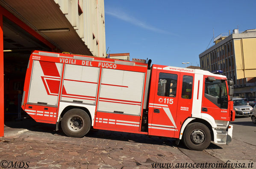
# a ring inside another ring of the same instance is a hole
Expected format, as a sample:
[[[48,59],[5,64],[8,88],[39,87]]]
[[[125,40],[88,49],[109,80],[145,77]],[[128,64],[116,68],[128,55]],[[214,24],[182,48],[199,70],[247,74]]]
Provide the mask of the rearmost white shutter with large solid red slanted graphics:
[[[57,106],[62,63],[33,61],[29,103]]]

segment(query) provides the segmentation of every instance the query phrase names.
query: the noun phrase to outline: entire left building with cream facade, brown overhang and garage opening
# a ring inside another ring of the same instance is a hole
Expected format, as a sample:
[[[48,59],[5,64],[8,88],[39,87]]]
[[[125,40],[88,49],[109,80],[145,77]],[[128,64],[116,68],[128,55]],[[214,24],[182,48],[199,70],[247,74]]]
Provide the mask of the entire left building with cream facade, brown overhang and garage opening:
[[[0,136],[33,50],[106,57],[104,0],[0,0]]]

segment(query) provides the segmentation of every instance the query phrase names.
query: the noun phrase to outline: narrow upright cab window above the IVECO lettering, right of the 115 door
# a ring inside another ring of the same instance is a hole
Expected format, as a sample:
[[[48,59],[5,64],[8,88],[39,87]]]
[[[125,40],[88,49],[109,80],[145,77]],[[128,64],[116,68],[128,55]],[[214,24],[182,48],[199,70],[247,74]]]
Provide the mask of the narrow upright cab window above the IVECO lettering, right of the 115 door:
[[[182,92],[181,92],[181,97],[183,99],[191,99],[192,86],[193,86],[193,77],[184,75],[182,80]]]

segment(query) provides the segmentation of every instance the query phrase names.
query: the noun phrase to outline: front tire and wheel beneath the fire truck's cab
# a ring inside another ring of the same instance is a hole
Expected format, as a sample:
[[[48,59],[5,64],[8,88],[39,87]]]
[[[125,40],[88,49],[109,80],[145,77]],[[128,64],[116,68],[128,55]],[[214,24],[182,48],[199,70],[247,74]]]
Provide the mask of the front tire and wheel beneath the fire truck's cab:
[[[202,151],[211,143],[211,132],[202,123],[190,123],[185,128],[182,141],[188,149]]]

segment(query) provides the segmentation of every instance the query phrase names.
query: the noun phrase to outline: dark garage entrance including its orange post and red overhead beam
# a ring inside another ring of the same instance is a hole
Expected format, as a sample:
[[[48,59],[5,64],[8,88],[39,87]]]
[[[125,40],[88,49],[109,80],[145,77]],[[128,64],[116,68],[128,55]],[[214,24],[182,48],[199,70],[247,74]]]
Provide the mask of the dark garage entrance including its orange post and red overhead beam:
[[[5,9],[0,11],[0,137],[4,120],[26,116],[21,100],[29,55],[33,50],[53,51],[53,48],[17,17]]]

